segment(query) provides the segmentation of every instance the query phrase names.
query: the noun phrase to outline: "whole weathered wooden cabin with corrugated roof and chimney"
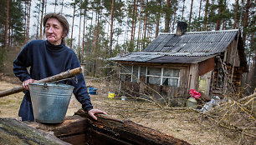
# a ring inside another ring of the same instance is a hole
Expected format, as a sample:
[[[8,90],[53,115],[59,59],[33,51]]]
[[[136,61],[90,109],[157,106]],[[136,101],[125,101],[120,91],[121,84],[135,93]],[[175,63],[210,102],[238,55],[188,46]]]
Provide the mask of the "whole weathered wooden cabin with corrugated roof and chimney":
[[[183,106],[190,89],[222,97],[241,86],[248,65],[238,29],[161,33],[145,50],[110,58],[120,65],[120,95]]]

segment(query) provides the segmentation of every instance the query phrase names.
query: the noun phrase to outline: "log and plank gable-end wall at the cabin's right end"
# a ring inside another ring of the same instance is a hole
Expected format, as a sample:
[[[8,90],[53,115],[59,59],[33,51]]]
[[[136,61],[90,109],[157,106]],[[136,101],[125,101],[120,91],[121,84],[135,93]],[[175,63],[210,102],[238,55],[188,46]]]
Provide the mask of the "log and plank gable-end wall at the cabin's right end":
[[[212,96],[223,97],[226,92],[234,92],[240,89],[243,70],[239,67],[240,57],[236,46],[237,41],[233,40],[220,57],[215,57],[216,66],[212,72],[210,92]],[[232,83],[230,83],[231,81]]]

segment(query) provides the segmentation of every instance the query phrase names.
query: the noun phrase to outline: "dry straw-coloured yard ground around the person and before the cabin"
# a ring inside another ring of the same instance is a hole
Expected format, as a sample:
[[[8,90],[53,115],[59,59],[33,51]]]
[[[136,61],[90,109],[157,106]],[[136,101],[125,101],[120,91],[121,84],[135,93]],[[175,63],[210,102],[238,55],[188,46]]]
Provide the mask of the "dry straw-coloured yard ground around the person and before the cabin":
[[[3,81],[4,80],[4,81]],[[13,83],[15,82],[15,83]],[[18,87],[18,80],[5,78],[0,80],[0,91]],[[95,108],[104,110],[110,116],[131,120],[148,128],[153,128],[175,138],[180,138],[192,144],[238,144],[239,134],[221,128],[206,117],[191,111],[164,111],[154,104],[134,99],[121,100],[108,98],[108,87],[104,83],[87,81],[87,86],[96,87],[97,95],[90,95]],[[18,117],[19,105],[23,92],[0,99],[0,117]],[[67,116],[74,115],[81,105],[71,97]],[[241,143],[241,142],[240,142]],[[254,144],[255,142],[250,142]]]

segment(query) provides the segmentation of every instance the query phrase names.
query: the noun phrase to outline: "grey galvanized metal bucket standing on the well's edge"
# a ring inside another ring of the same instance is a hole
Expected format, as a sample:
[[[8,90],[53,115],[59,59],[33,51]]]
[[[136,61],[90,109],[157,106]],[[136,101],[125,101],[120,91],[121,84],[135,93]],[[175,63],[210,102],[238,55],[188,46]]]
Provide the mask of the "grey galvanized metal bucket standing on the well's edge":
[[[33,116],[37,122],[63,122],[74,87],[56,83],[30,83]]]

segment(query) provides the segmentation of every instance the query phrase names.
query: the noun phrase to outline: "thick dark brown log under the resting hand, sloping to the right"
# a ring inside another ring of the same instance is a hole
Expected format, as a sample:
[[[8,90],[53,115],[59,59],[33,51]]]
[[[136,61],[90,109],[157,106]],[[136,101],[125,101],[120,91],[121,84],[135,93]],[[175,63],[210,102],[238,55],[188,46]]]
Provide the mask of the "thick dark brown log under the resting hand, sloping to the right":
[[[101,114],[97,115],[98,120],[95,121],[90,119],[88,114],[84,113],[82,110],[79,110],[75,114],[88,118],[90,121],[88,128],[92,128],[99,133],[104,133],[107,136],[117,138],[125,143],[147,145],[189,144],[185,141],[173,138],[172,136],[168,136],[151,128],[143,127],[135,122],[120,121]]]

